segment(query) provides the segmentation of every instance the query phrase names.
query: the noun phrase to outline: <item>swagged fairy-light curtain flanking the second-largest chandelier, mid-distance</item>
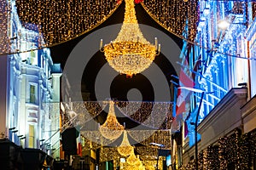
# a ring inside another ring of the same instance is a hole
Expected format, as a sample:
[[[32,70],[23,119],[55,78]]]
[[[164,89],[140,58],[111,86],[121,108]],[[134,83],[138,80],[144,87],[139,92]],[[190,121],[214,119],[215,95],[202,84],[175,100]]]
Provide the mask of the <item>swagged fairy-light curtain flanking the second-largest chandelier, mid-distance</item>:
[[[99,116],[109,101],[72,102],[72,111],[78,115],[74,123],[86,123]],[[63,105],[68,103],[63,102]],[[124,116],[146,127],[170,129],[172,125],[172,102],[114,101],[114,107]],[[66,108],[67,113],[71,108]],[[108,112],[108,111],[107,111]]]

